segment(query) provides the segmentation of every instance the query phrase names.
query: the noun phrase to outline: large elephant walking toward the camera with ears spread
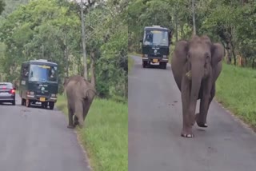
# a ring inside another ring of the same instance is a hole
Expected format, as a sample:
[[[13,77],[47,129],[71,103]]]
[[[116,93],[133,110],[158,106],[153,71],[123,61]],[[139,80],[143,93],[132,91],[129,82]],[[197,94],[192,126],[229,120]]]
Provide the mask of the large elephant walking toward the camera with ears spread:
[[[206,117],[215,96],[215,82],[222,72],[224,47],[206,35],[194,35],[177,42],[171,58],[171,70],[182,98],[182,137],[194,137],[192,127],[208,127]],[[200,100],[199,113],[195,114]]]

